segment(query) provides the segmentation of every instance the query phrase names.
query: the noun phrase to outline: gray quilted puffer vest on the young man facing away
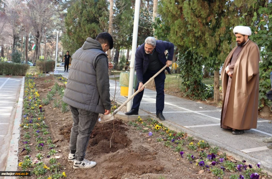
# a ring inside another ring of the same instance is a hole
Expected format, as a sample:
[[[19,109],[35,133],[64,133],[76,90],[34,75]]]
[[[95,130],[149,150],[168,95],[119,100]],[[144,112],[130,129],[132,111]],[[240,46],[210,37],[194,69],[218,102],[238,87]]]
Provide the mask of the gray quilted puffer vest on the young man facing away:
[[[100,44],[100,49],[84,49],[84,45],[72,56],[63,102],[75,108],[104,114],[105,108],[96,84],[95,61],[99,55],[104,54],[106,58],[107,55],[101,50]]]

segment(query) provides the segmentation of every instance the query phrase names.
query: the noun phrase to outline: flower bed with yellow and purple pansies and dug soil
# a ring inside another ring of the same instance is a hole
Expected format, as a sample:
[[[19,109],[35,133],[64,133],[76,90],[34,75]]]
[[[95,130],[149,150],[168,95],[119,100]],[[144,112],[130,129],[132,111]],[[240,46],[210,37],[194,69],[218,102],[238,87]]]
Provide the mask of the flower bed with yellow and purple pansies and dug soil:
[[[271,178],[259,164],[237,161],[205,141],[141,117],[128,123],[115,121],[115,128],[112,121],[97,123],[86,150],[86,159],[96,161],[96,167],[73,169],[67,161],[72,118],[61,105],[64,86],[56,82],[66,81],[52,77],[25,81],[18,170],[31,171],[28,178]]]

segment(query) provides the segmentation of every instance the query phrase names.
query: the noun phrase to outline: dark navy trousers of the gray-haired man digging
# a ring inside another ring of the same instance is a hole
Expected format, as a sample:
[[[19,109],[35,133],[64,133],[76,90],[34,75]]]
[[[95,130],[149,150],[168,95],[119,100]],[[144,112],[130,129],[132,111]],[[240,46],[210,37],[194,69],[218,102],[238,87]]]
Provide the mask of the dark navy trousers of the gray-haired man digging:
[[[157,71],[147,71],[143,75],[143,84],[146,83],[151,77],[154,76],[159,70]],[[155,80],[155,86],[157,91],[156,96],[156,114],[162,113],[164,110],[164,80],[165,80],[165,73],[162,71],[160,74],[158,74],[157,77],[154,78]],[[136,90],[138,90],[139,83],[136,86]],[[139,111],[140,103],[144,95],[144,90],[138,93],[136,96],[134,96],[133,104],[131,109],[135,109],[136,111]]]

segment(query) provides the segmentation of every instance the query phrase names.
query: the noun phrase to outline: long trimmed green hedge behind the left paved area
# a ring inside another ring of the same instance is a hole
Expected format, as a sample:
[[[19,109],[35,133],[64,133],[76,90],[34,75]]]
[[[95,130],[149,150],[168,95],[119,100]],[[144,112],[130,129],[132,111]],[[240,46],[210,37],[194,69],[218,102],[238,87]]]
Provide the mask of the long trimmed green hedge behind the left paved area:
[[[0,75],[25,76],[28,64],[0,62]]]

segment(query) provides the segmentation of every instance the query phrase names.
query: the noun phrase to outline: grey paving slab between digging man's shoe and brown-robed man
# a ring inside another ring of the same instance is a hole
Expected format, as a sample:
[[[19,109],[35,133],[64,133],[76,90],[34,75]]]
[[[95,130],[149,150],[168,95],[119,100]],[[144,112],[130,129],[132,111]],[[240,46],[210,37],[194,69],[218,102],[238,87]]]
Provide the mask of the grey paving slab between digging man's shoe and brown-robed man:
[[[220,123],[220,121],[208,118],[206,116],[201,117],[201,120],[199,120],[199,115],[195,113],[163,113],[163,114],[167,121],[174,122],[181,126]]]

